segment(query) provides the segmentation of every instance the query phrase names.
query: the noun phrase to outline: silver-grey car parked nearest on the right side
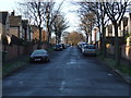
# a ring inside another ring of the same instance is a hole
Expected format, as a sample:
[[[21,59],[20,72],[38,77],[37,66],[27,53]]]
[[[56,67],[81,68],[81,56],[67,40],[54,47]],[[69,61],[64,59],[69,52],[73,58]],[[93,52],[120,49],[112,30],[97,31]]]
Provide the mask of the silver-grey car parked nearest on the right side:
[[[84,56],[96,56],[97,50],[96,47],[94,45],[86,45],[82,48],[82,53]]]

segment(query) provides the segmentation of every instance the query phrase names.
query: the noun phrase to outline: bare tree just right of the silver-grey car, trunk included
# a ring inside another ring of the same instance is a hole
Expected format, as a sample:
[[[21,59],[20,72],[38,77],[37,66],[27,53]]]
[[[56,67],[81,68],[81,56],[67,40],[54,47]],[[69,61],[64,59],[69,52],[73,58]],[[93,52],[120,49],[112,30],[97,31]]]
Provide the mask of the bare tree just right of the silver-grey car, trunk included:
[[[99,29],[99,38],[100,38],[100,52],[103,58],[106,57],[106,35],[105,35],[105,26],[109,19],[106,16],[104,2],[88,2],[85,0],[84,2],[80,3],[82,12],[87,13],[92,12],[96,16],[97,27]]]

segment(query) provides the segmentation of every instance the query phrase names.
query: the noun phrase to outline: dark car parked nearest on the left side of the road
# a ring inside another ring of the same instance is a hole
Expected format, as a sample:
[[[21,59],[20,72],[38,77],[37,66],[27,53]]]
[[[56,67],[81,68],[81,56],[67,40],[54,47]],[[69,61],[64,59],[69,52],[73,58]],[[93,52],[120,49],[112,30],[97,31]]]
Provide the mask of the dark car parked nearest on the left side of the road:
[[[36,61],[49,61],[49,54],[45,49],[39,49],[33,51],[33,53],[29,57],[29,62],[36,62]]]

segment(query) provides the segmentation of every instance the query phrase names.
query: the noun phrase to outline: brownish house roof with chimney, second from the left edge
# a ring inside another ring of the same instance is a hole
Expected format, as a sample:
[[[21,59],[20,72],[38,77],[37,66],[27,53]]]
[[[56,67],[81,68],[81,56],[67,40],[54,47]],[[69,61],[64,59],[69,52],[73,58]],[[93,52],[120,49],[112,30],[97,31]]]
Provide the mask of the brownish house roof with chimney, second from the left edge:
[[[20,15],[17,16],[11,15],[9,16],[9,20],[10,20],[10,26],[20,26],[22,23],[22,16]]]

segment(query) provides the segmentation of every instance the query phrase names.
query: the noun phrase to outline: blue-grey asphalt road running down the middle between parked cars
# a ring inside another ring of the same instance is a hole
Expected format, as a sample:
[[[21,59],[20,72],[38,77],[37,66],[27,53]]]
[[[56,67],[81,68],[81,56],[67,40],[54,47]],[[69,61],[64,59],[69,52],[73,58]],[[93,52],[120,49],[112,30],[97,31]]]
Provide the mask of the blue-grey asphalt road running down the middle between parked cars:
[[[129,96],[124,83],[95,57],[76,47],[55,51],[49,63],[33,63],[3,78],[3,96]]]

